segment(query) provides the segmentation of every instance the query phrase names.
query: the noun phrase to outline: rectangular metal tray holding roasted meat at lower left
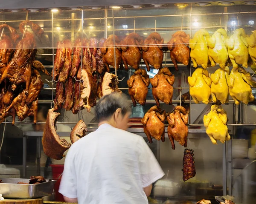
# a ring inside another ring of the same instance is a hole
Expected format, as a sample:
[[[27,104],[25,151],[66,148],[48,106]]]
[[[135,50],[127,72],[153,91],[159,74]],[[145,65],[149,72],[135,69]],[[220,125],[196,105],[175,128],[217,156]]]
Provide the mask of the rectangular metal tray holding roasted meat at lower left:
[[[0,193],[3,198],[33,199],[52,195],[56,181],[49,181],[41,184],[17,184],[19,181],[29,183],[25,178],[0,178]]]

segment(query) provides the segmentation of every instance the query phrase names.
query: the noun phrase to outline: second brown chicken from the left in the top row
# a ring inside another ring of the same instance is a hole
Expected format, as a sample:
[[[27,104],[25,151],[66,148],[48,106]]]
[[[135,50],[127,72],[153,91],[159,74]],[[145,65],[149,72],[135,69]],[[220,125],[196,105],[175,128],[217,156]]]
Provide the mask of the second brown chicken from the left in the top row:
[[[125,70],[128,71],[128,65],[137,70],[141,60],[141,45],[143,38],[137,33],[130,33],[121,43],[122,60]]]

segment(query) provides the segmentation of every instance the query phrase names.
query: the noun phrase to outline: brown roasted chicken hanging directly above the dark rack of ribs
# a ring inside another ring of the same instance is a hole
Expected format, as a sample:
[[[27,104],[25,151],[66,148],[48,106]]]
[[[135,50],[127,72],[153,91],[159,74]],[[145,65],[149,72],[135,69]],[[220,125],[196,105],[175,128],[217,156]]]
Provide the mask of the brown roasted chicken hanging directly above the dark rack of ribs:
[[[168,114],[167,114],[168,115]],[[189,129],[186,126],[188,124],[189,112],[182,106],[176,106],[174,112],[167,116],[168,121],[168,137],[172,143],[172,149],[175,149],[174,140],[181,146],[187,146],[187,136]]]

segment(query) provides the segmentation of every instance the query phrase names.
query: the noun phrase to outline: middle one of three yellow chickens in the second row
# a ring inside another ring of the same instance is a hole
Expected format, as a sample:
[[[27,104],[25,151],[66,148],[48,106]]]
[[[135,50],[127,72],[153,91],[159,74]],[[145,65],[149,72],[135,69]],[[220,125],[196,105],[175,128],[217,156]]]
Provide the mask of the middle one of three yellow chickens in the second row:
[[[212,101],[214,103],[216,103],[217,100],[221,101],[222,104],[228,103],[229,91],[227,86],[227,76],[227,72],[221,68],[217,69],[214,74],[211,74],[211,92]]]

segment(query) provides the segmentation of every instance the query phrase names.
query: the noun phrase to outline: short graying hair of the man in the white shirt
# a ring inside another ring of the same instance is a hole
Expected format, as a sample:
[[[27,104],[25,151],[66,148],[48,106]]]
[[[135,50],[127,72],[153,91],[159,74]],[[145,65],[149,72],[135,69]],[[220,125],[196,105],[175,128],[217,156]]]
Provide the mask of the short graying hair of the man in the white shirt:
[[[122,92],[112,92],[103,96],[97,103],[96,117],[99,121],[105,120],[111,117],[118,108],[121,108],[122,115],[125,115],[131,111],[131,103],[128,102],[128,96]]]

